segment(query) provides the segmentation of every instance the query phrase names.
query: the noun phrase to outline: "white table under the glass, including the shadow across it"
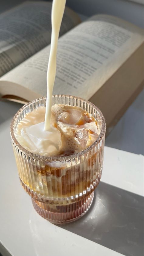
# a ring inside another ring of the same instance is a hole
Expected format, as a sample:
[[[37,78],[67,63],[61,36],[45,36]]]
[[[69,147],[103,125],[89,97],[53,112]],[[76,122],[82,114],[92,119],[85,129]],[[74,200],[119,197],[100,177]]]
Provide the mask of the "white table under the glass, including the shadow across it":
[[[91,209],[74,223],[53,225],[36,213],[19,182],[9,136],[19,107],[0,102],[0,253],[142,256],[143,156],[105,147],[102,182]]]

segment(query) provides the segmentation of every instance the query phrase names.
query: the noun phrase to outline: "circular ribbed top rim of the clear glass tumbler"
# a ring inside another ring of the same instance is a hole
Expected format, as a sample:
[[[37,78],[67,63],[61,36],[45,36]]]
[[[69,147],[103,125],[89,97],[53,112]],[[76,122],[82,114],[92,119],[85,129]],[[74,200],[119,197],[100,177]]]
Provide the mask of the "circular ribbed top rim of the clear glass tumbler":
[[[54,97],[69,97],[69,98],[76,98],[78,100],[81,100],[81,101],[85,101],[86,103],[90,104],[94,109],[96,109],[96,111],[98,112],[99,116],[101,117],[101,121],[102,121],[102,128],[101,128],[101,132],[97,138],[97,140],[94,141],[93,144],[91,144],[89,147],[87,147],[86,149],[84,150],[81,150],[80,152],[78,153],[75,153],[75,154],[72,154],[72,155],[69,155],[69,156],[56,156],[56,157],[45,157],[45,156],[42,156],[42,155],[38,155],[38,154],[34,154],[32,152],[30,152],[29,150],[26,150],[24,147],[22,147],[22,145],[18,142],[18,140],[15,138],[15,135],[14,135],[14,132],[13,132],[13,126],[14,126],[14,123],[16,121],[16,119],[18,118],[18,116],[20,115],[20,113],[26,109],[28,106],[32,105],[33,103],[35,102],[39,102],[40,100],[46,100],[46,96],[44,97],[40,97],[38,99],[35,99],[35,100],[32,100],[28,103],[26,103],[24,106],[22,106],[15,114],[15,116],[13,117],[12,121],[11,121],[11,124],[10,124],[10,136],[11,136],[11,140],[13,142],[13,144],[15,144],[17,146],[17,148],[23,152],[25,155],[27,155],[28,157],[32,157],[33,159],[39,159],[41,161],[64,161],[64,160],[70,160],[70,159],[73,159],[75,157],[79,157],[79,156],[82,156],[84,155],[85,153],[87,153],[88,151],[92,150],[94,147],[97,146],[97,144],[100,142],[101,138],[104,137],[104,134],[105,134],[105,130],[106,130],[106,123],[105,123],[105,118],[101,112],[100,109],[98,109],[98,107],[96,107],[93,103],[91,103],[90,101],[88,100],[85,100],[81,97],[77,97],[77,96],[73,96],[73,95],[67,95],[67,94],[55,94],[52,96],[52,98]]]

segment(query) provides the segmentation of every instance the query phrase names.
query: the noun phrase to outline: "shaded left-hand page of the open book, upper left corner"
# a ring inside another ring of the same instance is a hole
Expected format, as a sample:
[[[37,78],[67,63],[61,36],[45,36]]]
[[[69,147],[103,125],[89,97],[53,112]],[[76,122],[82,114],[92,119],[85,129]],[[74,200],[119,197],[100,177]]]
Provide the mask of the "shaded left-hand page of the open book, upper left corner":
[[[50,43],[51,2],[27,1],[0,15],[0,76]],[[60,36],[80,22],[66,7]]]

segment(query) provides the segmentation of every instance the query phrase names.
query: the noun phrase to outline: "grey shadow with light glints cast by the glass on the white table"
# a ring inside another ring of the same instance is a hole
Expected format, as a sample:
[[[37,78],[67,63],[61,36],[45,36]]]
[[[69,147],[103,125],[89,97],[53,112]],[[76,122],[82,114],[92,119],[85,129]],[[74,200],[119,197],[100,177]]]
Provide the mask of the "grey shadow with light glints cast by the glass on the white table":
[[[100,182],[88,213],[61,227],[126,256],[143,256],[143,222],[142,196]]]

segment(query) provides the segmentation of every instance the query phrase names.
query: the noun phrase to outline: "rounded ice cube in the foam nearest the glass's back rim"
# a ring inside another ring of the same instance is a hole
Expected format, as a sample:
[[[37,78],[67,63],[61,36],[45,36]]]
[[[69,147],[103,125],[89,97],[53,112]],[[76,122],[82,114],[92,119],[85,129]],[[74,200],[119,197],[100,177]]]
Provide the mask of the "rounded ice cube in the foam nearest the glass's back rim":
[[[81,118],[81,111],[77,109],[69,109],[65,112],[62,112],[58,117],[58,121],[67,123],[67,124],[75,124]]]

